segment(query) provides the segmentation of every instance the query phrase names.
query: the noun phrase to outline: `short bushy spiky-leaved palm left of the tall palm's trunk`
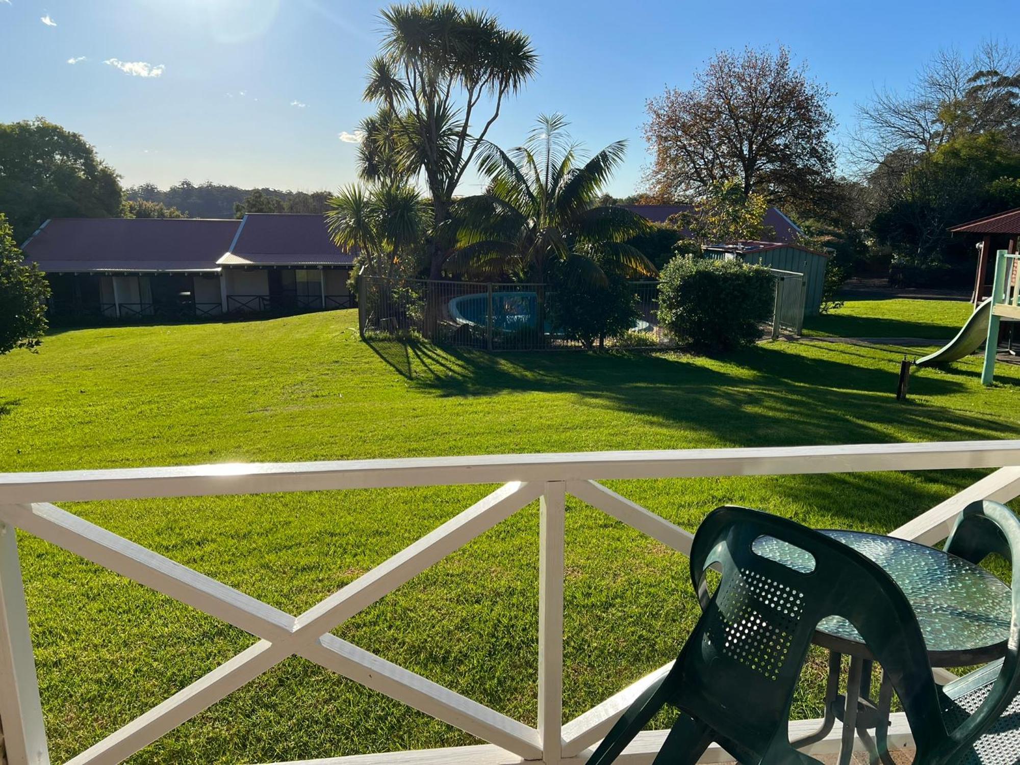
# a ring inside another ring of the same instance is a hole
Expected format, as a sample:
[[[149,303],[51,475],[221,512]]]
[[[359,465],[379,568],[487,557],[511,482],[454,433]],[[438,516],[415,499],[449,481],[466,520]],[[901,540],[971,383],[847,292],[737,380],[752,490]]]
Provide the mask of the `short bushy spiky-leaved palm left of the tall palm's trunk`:
[[[397,183],[350,186],[326,206],[333,241],[356,256],[352,272],[364,266],[368,275],[390,278],[417,270],[430,215],[417,191]]]

